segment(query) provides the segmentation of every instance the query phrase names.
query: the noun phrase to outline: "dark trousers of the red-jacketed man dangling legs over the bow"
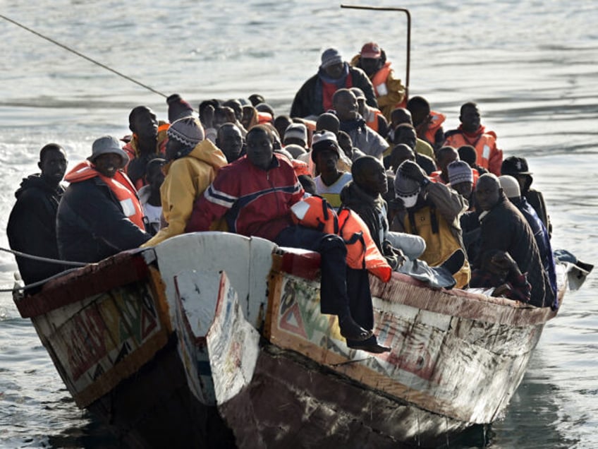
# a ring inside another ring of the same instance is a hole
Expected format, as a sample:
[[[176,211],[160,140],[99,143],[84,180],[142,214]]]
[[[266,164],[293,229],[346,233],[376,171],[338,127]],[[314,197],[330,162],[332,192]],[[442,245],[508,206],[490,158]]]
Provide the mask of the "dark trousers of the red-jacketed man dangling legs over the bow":
[[[274,243],[320,254],[322,280],[319,296],[322,313],[340,316],[350,313],[362,328],[374,327],[367,270],[355,270],[347,266],[347,248],[341,237],[303,226],[291,226],[283,229]]]

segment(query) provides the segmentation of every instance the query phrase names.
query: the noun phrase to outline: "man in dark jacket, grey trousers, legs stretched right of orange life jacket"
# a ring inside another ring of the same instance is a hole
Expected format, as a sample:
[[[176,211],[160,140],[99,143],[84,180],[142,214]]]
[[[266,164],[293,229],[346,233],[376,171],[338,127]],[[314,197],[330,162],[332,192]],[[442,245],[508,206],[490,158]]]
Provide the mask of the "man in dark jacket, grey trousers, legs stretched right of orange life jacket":
[[[453,258],[449,258],[444,266],[438,268],[431,268],[424,261],[418,261],[417,258],[426,249],[425,240],[416,235],[389,231],[387,205],[382,199],[388,183],[386,171],[379,160],[372,156],[361,157],[355,161],[351,172],[353,181],[341,192],[343,207],[360,215],[370,229],[376,246],[393,270],[428,282],[432,287],[453,287],[455,279],[451,270],[460,270],[465,254],[456,252]]]

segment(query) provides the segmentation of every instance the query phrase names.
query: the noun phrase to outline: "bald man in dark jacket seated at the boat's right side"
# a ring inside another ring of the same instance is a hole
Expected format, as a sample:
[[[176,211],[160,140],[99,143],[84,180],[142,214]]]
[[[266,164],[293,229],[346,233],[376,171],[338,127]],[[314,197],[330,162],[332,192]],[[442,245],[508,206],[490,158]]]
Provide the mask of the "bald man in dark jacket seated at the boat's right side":
[[[499,249],[508,252],[532,285],[530,304],[537,307],[553,304],[554,294],[547,273],[542,268],[538,246],[525,217],[506,198],[494,174],[482,174],[475,187],[480,215],[480,255]],[[481,257],[480,257],[481,259]],[[481,265],[481,260],[475,263]]]

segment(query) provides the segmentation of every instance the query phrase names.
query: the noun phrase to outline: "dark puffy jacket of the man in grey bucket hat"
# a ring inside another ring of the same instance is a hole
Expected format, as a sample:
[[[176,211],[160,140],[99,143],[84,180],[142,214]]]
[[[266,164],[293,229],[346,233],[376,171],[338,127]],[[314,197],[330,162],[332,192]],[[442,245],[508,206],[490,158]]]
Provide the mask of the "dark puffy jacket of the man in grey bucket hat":
[[[98,177],[68,186],[58,208],[56,234],[61,258],[76,262],[99,262],[150,239],[128,220]]]

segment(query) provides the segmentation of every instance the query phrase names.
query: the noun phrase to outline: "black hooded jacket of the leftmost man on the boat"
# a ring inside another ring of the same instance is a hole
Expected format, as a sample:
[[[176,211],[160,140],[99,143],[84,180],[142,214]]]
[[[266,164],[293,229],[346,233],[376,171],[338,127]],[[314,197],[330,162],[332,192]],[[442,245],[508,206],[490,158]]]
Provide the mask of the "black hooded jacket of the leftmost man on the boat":
[[[58,259],[56,246],[56,210],[64,193],[63,186],[50,186],[39,174],[23,179],[15,192],[17,202],[8,218],[6,234],[11,249],[22,253]],[[25,285],[60,273],[62,265],[17,257]]]

